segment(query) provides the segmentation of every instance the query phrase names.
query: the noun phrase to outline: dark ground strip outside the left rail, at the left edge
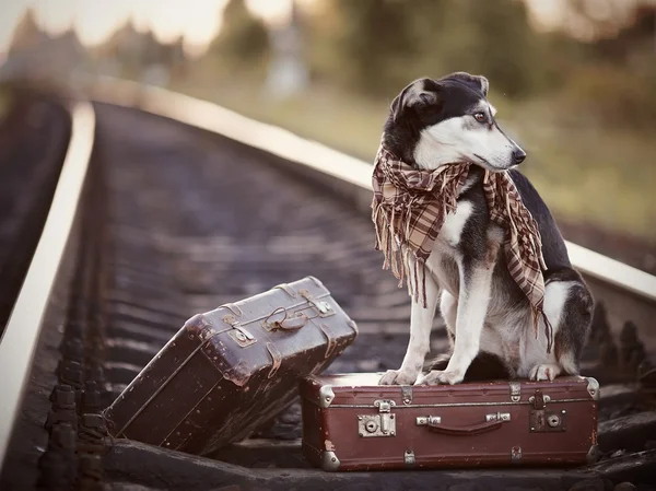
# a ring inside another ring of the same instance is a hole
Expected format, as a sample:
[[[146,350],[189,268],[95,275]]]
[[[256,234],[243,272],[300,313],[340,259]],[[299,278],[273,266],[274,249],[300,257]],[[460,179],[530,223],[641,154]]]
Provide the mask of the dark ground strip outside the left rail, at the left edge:
[[[0,122],[0,336],[39,238],[70,139],[69,113],[51,97],[11,91]]]

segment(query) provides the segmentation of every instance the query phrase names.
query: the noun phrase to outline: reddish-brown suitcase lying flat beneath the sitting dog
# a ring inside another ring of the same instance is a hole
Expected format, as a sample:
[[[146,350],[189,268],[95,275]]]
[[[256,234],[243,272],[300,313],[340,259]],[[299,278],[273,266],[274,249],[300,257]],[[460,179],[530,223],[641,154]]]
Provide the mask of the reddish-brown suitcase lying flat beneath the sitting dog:
[[[301,383],[303,453],[325,470],[581,465],[596,459],[594,378],[379,386],[383,374]]]

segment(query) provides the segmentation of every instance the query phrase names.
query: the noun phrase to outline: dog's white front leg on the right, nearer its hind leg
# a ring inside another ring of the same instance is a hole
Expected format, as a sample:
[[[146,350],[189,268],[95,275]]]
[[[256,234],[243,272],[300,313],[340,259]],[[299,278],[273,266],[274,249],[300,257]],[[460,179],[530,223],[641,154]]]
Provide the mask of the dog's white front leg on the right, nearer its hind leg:
[[[445,371],[433,370],[417,384],[459,384],[479,352],[481,331],[490,303],[493,266],[467,265],[460,268],[460,291],[456,316],[454,352]]]

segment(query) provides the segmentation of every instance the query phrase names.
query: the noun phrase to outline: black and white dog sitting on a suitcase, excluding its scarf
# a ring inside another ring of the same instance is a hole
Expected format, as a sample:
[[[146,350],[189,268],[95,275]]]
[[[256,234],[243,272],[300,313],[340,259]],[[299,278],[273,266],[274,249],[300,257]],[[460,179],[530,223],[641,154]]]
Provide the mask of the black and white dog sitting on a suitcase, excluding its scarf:
[[[459,384],[481,359],[499,361],[509,378],[546,381],[578,373],[593,297],[572,268],[547,204],[514,169],[526,153],[501,130],[487,96],[485,78],[457,72],[417,80],[391,104],[383,143],[398,157],[424,169],[456,162],[476,165],[426,261],[427,305],[412,301],[410,341],[401,367],[384,374],[382,385]],[[553,328],[551,353],[543,320],[536,339],[528,300],[507,270],[505,232],[491,223],[483,195],[484,169],[508,171],[538,223],[548,268],[543,308]],[[452,350],[443,370],[422,373],[437,302]]]

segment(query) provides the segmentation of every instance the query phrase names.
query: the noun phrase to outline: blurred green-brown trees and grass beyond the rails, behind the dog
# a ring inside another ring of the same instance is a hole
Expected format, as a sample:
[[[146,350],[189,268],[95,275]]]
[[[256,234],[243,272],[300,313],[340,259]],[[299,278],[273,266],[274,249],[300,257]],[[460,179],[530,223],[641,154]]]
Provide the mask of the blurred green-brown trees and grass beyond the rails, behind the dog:
[[[500,124],[528,152],[524,172],[560,219],[656,244],[656,1],[279,1],[286,16],[267,23],[229,0],[195,55],[183,37],[162,43],[129,21],[81,47],[74,33],[40,33],[27,12],[5,65],[46,36],[72,60],[50,62],[50,75],[168,86],[370,162],[406,84],[483,74]],[[536,21],[547,3],[550,28]]]

